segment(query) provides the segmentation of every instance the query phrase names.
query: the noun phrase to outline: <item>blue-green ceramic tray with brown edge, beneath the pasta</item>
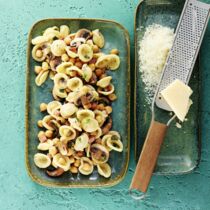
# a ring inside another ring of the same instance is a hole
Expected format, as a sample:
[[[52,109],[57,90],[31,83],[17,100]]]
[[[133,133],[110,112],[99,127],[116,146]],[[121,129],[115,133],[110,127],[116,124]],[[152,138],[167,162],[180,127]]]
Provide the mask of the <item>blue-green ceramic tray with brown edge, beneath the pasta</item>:
[[[71,175],[66,173],[59,178],[50,178],[43,170],[38,169],[33,162],[33,156],[37,152],[37,133],[39,131],[36,122],[42,119],[43,115],[39,112],[41,102],[48,103],[52,100],[52,80],[41,87],[35,85],[34,65],[37,63],[31,57],[31,39],[40,35],[44,29],[50,26],[69,25],[71,31],[80,28],[96,29],[99,28],[105,36],[104,52],[109,52],[112,48],[120,51],[120,69],[110,72],[113,76],[118,99],[113,103],[113,130],[118,130],[122,136],[124,151],[122,153],[112,153],[109,163],[112,167],[112,175],[105,179],[94,171],[90,176],[81,174]],[[32,27],[28,38],[28,57],[27,57],[27,81],[26,81],[26,142],[25,158],[26,167],[30,177],[37,183],[52,187],[97,187],[111,186],[117,184],[125,176],[130,150],[130,43],[127,30],[120,24],[97,19],[45,19],[41,20]]]

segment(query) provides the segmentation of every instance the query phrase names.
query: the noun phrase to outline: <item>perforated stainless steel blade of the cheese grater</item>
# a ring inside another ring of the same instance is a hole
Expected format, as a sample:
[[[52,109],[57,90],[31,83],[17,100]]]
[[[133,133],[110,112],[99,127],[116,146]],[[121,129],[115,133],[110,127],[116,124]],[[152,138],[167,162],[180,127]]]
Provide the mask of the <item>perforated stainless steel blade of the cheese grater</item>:
[[[156,105],[171,111],[161,97],[160,91],[175,79],[188,84],[201,46],[209,18],[210,5],[197,0],[186,0],[177,29],[174,43],[163,69],[154,100]]]

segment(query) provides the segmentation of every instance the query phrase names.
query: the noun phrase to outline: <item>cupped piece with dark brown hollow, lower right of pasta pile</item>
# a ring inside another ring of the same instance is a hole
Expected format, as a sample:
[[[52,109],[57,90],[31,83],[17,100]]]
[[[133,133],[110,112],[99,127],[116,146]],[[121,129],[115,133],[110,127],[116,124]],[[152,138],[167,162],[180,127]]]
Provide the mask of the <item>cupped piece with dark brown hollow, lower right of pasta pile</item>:
[[[90,148],[91,158],[94,163],[105,163],[109,159],[109,151],[101,144],[92,144]]]

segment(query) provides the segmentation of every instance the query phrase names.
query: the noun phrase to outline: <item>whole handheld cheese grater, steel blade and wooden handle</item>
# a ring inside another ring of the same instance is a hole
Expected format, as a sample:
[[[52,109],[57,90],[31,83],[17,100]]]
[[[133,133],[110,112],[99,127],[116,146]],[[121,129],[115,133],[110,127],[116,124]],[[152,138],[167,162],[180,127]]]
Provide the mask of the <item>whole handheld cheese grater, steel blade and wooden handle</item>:
[[[173,46],[153,99],[152,121],[136,166],[130,190],[137,189],[143,193],[147,191],[168,126],[176,117],[174,115],[168,119],[168,112],[165,111],[162,111],[159,115],[159,111],[162,109],[171,111],[161,97],[160,91],[165,89],[175,79],[188,84],[208,23],[209,10],[210,5],[208,4],[196,0],[186,0],[185,2],[176,28]],[[163,123],[162,119],[165,120],[166,118],[167,122]],[[143,197],[144,194],[138,198]]]

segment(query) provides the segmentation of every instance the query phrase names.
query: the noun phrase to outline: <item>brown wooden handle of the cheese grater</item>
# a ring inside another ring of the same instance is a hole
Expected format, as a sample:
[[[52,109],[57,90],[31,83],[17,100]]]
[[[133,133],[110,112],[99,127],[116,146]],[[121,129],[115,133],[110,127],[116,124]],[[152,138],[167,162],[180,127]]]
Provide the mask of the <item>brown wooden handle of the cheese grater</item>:
[[[130,190],[147,191],[168,126],[152,121],[139,157]]]

